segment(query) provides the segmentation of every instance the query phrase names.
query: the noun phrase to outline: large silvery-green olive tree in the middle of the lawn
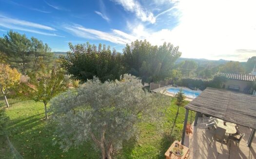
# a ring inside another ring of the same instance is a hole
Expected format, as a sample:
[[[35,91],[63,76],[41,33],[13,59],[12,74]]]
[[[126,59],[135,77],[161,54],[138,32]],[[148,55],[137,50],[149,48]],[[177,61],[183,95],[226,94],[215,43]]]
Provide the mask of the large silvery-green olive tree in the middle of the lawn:
[[[88,80],[77,93],[63,93],[50,103],[57,143],[67,151],[91,141],[102,159],[111,159],[122,141],[136,135],[138,122],[159,119],[166,98],[144,91],[141,81],[127,74],[120,81]]]

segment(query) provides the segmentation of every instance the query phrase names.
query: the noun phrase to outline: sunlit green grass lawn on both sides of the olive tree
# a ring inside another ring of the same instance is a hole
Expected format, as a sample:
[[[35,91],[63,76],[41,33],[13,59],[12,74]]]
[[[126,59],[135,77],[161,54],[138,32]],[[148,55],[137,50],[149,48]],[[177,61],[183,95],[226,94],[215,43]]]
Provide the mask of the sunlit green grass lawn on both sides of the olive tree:
[[[84,143],[79,148],[62,152],[59,145],[53,145],[55,127],[44,119],[42,103],[9,99],[10,108],[6,113],[10,143],[1,139],[0,159],[12,159],[19,154],[24,159],[99,159],[100,152],[91,143]],[[0,98],[0,106],[5,103]],[[123,143],[123,149],[113,155],[115,159],[163,159],[164,153],[174,140],[181,139],[181,131],[185,117],[185,109],[180,108],[176,116],[175,99],[166,106],[162,127],[158,123],[140,123],[138,139],[133,138]],[[195,113],[192,113],[192,121]],[[190,119],[190,114],[189,114]],[[176,124],[174,122],[176,120]]]

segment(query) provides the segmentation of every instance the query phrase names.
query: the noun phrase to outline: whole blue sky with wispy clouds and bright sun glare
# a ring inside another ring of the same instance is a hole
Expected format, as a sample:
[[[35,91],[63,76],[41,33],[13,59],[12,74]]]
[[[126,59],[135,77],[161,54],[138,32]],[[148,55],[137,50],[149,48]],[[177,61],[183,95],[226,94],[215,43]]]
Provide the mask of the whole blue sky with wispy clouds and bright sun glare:
[[[0,0],[0,33],[34,36],[53,51],[89,41],[121,52],[147,39],[179,46],[182,57],[246,61],[256,55],[253,6],[254,0]]]

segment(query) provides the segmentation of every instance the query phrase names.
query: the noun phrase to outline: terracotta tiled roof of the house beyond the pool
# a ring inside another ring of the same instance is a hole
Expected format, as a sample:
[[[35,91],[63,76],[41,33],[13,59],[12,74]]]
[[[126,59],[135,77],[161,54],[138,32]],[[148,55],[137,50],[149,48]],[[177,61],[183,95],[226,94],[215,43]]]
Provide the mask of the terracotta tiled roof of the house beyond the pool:
[[[238,73],[220,73],[228,79],[256,81],[256,75],[251,74],[238,74]]]

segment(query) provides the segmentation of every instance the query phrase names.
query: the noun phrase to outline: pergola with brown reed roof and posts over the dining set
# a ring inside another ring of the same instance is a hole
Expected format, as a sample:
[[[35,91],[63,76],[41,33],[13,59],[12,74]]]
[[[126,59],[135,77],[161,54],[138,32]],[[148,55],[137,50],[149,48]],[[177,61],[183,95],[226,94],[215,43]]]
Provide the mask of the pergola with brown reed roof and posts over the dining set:
[[[208,87],[185,108],[186,115],[181,144],[184,143],[188,113],[191,110],[197,112],[195,126],[197,125],[198,114],[202,113],[252,128],[251,135],[247,141],[248,147],[251,147],[256,132],[256,96]]]

